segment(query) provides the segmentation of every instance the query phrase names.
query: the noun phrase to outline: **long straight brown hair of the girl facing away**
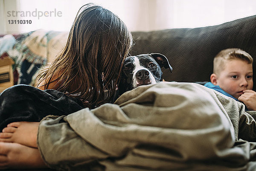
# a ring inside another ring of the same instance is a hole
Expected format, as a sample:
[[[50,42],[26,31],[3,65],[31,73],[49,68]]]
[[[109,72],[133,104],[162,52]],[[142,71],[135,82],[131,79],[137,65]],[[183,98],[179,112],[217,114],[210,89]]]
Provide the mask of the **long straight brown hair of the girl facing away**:
[[[92,3],[79,9],[66,46],[38,75],[47,89],[58,75],[54,89],[96,107],[110,101],[119,83],[124,59],[132,46],[131,32],[115,14]],[[76,85],[75,87],[73,87]],[[74,90],[70,90],[73,87]]]

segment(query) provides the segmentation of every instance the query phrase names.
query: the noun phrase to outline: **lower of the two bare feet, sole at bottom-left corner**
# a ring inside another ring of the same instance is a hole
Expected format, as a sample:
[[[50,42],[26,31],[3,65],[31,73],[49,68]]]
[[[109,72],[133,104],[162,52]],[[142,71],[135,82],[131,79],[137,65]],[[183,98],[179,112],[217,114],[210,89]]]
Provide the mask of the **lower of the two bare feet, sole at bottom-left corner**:
[[[0,142],[0,170],[18,168],[47,168],[37,148]]]

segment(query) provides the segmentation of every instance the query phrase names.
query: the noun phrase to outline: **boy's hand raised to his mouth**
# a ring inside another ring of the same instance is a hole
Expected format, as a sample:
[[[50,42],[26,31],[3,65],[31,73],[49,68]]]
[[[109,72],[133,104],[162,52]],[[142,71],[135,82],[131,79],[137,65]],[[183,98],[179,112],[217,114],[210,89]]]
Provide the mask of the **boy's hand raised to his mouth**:
[[[244,90],[239,96],[239,101],[242,101],[248,110],[256,110],[256,92],[253,90]]]

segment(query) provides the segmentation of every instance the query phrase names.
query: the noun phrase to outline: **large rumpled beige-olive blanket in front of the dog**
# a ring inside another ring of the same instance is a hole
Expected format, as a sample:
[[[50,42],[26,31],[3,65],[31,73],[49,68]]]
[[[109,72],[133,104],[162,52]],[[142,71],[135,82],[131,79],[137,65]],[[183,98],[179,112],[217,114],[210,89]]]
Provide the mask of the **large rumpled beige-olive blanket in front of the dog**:
[[[126,92],[115,103],[42,120],[38,148],[45,162],[70,171],[256,167],[256,112],[215,90],[161,82]]]

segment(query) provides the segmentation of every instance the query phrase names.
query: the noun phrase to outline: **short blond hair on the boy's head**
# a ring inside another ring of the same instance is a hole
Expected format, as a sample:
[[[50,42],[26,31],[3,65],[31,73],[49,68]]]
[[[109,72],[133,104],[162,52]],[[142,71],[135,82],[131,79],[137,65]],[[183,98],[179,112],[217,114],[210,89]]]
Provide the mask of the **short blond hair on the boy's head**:
[[[218,74],[221,70],[224,69],[226,61],[233,59],[239,59],[241,61],[246,61],[248,64],[253,63],[253,58],[251,55],[244,50],[239,48],[229,48],[224,49],[219,52],[213,60],[213,73]]]

